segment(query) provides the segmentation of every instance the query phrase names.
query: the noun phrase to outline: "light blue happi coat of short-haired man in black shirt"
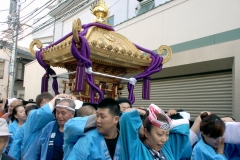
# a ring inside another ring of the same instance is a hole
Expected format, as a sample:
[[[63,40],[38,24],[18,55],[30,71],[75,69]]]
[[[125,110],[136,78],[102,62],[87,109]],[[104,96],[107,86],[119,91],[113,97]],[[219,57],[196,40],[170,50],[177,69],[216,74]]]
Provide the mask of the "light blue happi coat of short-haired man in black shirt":
[[[72,149],[68,160],[111,160],[105,139],[97,129],[90,130],[81,137]],[[115,149],[114,160],[120,159],[120,138]]]

